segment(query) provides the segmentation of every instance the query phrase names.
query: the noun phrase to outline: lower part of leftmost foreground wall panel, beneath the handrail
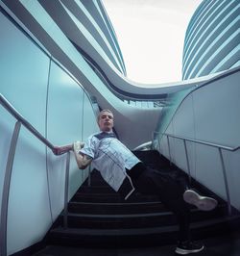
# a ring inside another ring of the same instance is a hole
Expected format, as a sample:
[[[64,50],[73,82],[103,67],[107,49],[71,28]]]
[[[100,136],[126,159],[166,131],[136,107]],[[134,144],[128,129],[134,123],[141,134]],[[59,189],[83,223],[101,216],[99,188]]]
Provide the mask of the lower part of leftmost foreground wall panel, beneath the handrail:
[[[9,254],[28,246],[30,241],[36,243],[42,239],[52,223],[45,163],[45,146],[22,128],[12,167],[7,229]]]

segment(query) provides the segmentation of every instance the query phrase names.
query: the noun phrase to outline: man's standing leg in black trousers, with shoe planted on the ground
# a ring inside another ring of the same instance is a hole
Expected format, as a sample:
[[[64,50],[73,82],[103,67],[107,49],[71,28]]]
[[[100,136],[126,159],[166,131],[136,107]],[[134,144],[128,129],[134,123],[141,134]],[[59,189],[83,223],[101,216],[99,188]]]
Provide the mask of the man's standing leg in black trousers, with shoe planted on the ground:
[[[142,171],[141,175],[132,181],[138,192],[157,194],[161,202],[176,214],[180,226],[176,253],[196,253],[204,249],[203,244],[191,242],[190,209],[189,205],[183,200],[184,188],[178,182],[166,173],[161,173],[152,168]]]

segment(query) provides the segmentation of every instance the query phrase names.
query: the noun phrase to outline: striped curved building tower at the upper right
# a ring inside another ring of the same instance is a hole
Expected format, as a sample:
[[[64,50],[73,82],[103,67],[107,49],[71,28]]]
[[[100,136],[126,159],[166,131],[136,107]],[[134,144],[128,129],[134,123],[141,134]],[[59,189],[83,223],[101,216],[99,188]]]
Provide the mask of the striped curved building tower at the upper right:
[[[182,79],[240,65],[240,1],[204,0],[186,30]]]

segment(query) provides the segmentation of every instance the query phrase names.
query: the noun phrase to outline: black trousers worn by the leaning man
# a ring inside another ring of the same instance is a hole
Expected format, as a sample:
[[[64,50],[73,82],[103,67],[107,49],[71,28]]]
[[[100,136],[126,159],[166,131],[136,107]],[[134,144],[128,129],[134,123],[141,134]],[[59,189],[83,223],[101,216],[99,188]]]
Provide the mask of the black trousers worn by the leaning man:
[[[179,241],[190,240],[190,208],[183,200],[185,188],[165,171],[156,170],[138,163],[127,170],[136,192],[156,194],[159,200],[172,211],[180,226]]]

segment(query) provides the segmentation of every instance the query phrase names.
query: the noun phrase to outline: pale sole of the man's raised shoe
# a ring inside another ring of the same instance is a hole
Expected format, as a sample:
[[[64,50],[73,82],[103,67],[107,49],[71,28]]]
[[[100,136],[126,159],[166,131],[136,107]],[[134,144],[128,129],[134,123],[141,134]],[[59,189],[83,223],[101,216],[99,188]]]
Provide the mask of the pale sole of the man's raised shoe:
[[[187,190],[183,193],[185,202],[195,205],[201,211],[211,211],[216,208],[218,202],[211,197],[201,196],[197,192]]]

